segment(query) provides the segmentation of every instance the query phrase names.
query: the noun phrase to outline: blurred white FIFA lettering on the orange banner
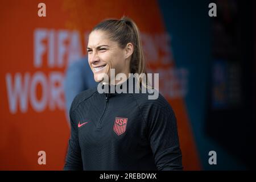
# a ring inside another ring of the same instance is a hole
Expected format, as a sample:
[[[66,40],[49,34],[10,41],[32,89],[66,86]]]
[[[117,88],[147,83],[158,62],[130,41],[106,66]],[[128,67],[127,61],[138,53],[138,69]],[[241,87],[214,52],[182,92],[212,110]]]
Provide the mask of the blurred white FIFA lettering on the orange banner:
[[[47,54],[49,68],[63,68],[72,61],[80,59],[82,48],[79,32],[36,28],[34,31],[34,66],[36,68],[42,67],[45,54]]]

